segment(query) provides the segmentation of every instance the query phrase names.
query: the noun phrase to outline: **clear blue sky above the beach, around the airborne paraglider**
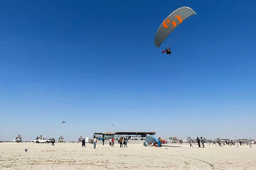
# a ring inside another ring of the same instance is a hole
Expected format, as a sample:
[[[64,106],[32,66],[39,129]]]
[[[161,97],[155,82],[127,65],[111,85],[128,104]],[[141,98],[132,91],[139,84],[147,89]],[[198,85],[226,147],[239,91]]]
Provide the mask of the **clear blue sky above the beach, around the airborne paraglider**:
[[[164,45],[161,22],[196,11]],[[0,140],[256,137],[255,1],[1,1]],[[111,127],[111,124],[114,126]]]

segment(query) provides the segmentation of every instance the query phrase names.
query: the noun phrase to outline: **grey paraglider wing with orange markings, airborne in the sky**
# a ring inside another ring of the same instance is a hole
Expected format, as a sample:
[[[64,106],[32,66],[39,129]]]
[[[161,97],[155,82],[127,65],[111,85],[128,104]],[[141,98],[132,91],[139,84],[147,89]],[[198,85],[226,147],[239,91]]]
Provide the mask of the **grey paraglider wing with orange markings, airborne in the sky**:
[[[176,9],[171,13],[161,24],[159,29],[156,31],[154,44],[156,47],[160,47],[161,43],[168,37],[168,35],[186,18],[189,16],[196,15],[196,13],[189,7],[183,6]]]

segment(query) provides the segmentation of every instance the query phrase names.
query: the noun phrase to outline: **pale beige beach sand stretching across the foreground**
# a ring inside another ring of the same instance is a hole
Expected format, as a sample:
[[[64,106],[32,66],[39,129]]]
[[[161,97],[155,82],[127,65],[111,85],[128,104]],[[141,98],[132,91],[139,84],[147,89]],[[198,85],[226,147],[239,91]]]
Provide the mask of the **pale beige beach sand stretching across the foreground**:
[[[0,143],[0,169],[256,169],[256,146],[116,144],[93,149],[80,143]]]

